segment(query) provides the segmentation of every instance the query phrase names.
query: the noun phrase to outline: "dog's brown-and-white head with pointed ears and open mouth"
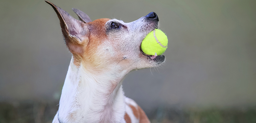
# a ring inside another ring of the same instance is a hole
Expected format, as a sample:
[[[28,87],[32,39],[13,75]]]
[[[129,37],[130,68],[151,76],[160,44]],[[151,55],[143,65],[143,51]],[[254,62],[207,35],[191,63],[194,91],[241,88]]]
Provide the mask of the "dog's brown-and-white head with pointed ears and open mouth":
[[[165,56],[152,57],[140,49],[146,35],[158,28],[158,16],[151,12],[136,21],[125,23],[117,19],[95,21],[78,9],[73,9],[80,20],[49,3],[58,15],[61,30],[74,64],[88,70],[131,71],[155,67],[165,61]]]

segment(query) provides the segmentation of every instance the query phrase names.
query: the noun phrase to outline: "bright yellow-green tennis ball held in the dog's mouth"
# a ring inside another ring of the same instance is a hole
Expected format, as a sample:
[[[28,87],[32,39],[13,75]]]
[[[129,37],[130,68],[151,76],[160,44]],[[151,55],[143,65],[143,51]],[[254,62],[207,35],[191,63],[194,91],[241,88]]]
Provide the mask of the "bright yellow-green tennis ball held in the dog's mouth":
[[[141,43],[141,49],[148,55],[161,55],[167,49],[168,39],[165,33],[155,29],[151,31]]]

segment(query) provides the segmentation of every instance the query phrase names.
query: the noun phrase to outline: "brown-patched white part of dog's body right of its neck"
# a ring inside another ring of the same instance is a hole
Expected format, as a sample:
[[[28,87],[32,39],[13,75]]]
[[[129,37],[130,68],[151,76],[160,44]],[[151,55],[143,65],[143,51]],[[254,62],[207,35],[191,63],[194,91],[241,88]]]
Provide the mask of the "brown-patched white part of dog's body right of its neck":
[[[125,98],[125,121],[126,123],[150,123],[145,112],[140,106],[130,98]]]

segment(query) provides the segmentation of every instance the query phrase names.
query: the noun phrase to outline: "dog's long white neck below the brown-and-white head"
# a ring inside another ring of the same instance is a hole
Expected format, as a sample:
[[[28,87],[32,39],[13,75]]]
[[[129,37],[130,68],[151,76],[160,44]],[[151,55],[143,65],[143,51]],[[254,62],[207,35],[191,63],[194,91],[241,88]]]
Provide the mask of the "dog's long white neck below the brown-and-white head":
[[[123,119],[125,103],[123,73],[91,74],[71,59],[59,101],[60,123],[116,123]]]

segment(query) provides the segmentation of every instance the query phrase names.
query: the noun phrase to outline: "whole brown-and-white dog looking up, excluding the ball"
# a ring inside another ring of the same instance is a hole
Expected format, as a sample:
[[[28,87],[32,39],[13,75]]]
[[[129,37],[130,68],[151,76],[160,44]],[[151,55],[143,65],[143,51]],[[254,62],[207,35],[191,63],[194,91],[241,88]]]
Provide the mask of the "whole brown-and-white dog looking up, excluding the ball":
[[[134,69],[156,67],[165,56],[146,55],[140,44],[158,28],[151,12],[136,21],[91,19],[78,9],[73,18],[50,4],[58,15],[65,43],[72,53],[53,123],[150,123],[145,112],[124,96],[123,77]]]

